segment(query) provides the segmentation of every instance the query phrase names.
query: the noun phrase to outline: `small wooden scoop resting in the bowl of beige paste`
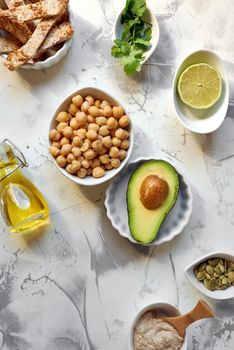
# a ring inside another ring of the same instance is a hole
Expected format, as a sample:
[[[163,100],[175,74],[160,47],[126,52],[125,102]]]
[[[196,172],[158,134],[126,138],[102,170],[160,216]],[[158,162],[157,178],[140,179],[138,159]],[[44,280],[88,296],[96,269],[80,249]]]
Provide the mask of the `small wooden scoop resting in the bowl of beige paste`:
[[[199,300],[195,308],[183,316],[163,317],[162,319],[173,326],[179,335],[184,338],[186,328],[193,322],[203,318],[215,317],[213,311],[204,300]]]

